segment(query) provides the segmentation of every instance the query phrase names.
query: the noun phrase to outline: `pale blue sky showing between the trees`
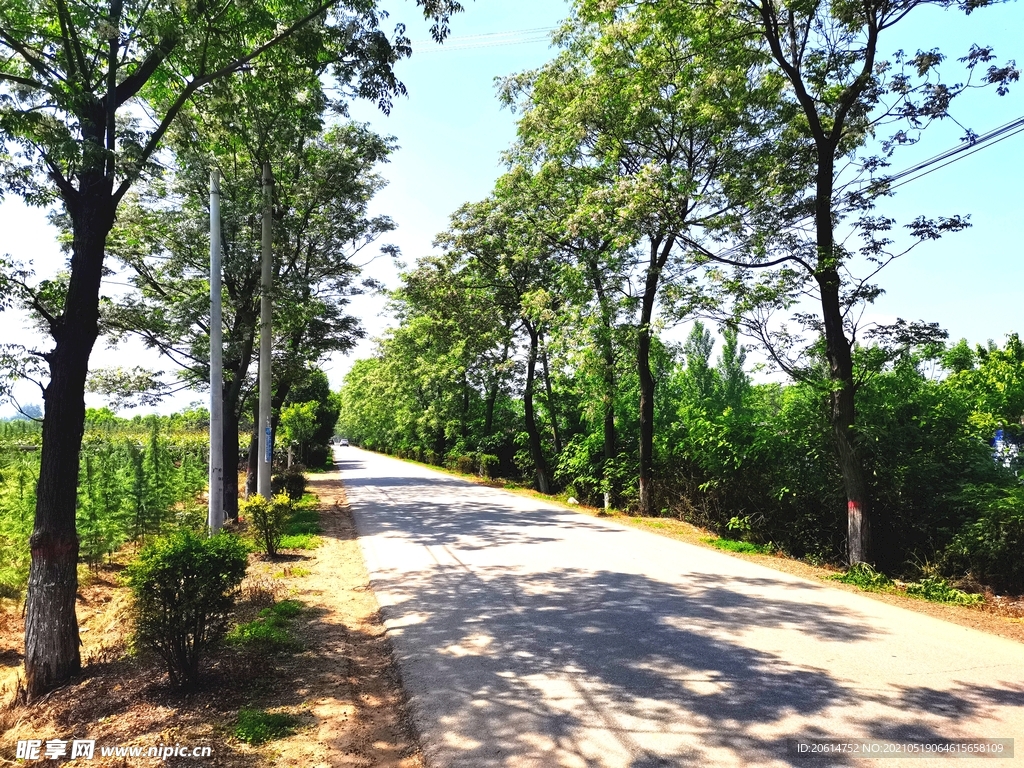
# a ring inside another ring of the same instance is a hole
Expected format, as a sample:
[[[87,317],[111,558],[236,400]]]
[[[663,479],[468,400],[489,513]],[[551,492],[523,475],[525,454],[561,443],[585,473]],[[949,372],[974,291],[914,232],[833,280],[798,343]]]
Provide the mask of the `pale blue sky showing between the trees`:
[[[401,147],[382,169],[390,184],[377,198],[376,213],[395,219],[397,231],[389,239],[412,263],[429,253],[434,236],[447,224],[449,215],[460,205],[485,197],[502,172],[501,153],[515,136],[515,116],[503,110],[495,97],[494,80],[543,65],[552,55],[544,41],[507,44],[536,39],[538,35],[499,36],[523,30],[551,28],[566,15],[559,0],[466,3],[465,13],[453,22],[453,38],[444,46],[429,42],[427,25],[411,0],[383,3],[391,11],[388,24],[403,22],[409,36],[418,41],[412,59],[398,66],[398,76],[409,96],[395,102],[390,116],[373,105],[352,105],[354,119],[369,122],[382,134],[394,135]],[[955,58],[972,43],[992,45],[1001,58],[1016,58],[1024,66],[1024,5],[996,5],[964,16],[955,11],[928,7],[915,11],[889,39],[887,47],[908,51],[938,47]],[[958,76],[951,75],[955,80]],[[978,133],[1024,116],[1024,83],[1008,96],[991,89],[961,99],[956,119]],[[939,124],[926,132],[922,142],[900,152],[893,168],[900,169],[955,145],[962,129]],[[903,186],[886,201],[882,213],[901,222],[919,214],[929,216],[970,214],[973,227],[937,243],[926,244],[888,267],[879,282],[887,293],[877,302],[879,319],[901,316],[936,321],[951,338],[972,342],[1000,341],[1010,331],[1022,330],[1018,309],[1020,286],[1024,285],[1024,218],[1021,187],[1024,183],[1024,134],[988,146],[971,158],[931,173]],[[0,252],[34,259],[41,273],[61,263],[42,212],[26,209],[15,199],[0,205]],[[368,271],[391,285],[392,265],[383,261]],[[112,287],[112,290],[113,289]],[[379,334],[386,318],[379,316],[382,302],[366,298],[354,305],[368,331]],[[2,341],[27,340],[31,334],[18,330],[20,323],[8,314],[2,318]],[[370,351],[364,344],[355,355]],[[126,357],[143,360],[138,347],[118,351],[97,344],[94,365],[110,366]],[[351,357],[332,360],[328,368],[335,385],[351,364]],[[161,368],[159,361],[147,364]],[[164,367],[166,368],[166,366]],[[28,399],[38,396],[26,392]],[[202,399],[196,393],[178,402]]]

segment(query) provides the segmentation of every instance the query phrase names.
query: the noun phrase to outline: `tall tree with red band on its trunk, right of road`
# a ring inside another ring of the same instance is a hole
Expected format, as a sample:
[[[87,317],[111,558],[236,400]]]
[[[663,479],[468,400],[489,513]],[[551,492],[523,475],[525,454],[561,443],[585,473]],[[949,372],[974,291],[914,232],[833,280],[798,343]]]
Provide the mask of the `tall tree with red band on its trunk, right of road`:
[[[971,12],[987,3],[942,4]],[[819,313],[803,319],[815,337],[820,335],[824,341],[829,419],[847,497],[851,563],[869,558],[871,520],[869,481],[857,431],[855,307],[880,293],[868,280],[909,250],[894,246],[894,220],[872,214],[877,198],[888,191],[885,177],[879,174],[896,147],[912,143],[928,124],[947,117],[952,98],[972,87],[970,78],[949,85],[936,77],[944,58],[936,49],[912,56],[900,51],[891,60],[881,57],[880,41],[886,33],[897,25],[906,27],[906,19],[916,17],[915,11],[926,5],[929,3],[921,0],[812,4],[750,0],[735,6],[751,39],[785,80],[783,98],[795,108],[790,127],[769,136],[779,160],[772,175],[783,182],[780,189],[805,193],[802,202],[795,205],[779,205],[767,198],[768,206],[759,208],[748,199],[748,205],[757,211],[753,218],[761,227],[760,236],[752,238],[751,257],[723,257],[710,251],[706,255],[740,267],[784,265],[781,272],[748,294],[754,304],[764,298],[771,301],[779,293],[788,303],[808,291],[820,304]],[[976,45],[963,60],[973,73],[992,58],[991,49]],[[1012,65],[990,65],[981,80],[995,84],[1001,94],[1017,77]],[[883,142],[881,156],[862,152],[883,126],[892,123],[898,125]],[[843,239],[837,238],[843,219],[862,239],[858,251],[848,249]],[[812,233],[805,238],[808,221]],[[909,247],[966,225],[958,216],[920,217],[906,225]],[[867,279],[852,276],[851,264],[858,257],[867,262]],[[764,321],[765,315],[758,319]],[[755,321],[751,327],[776,361],[800,375],[799,366],[785,357],[785,347],[799,339],[779,334],[777,328],[773,333],[767,322]],[[925,327],[916,330],[928,331]],[[927,335],[919,334],[918,341]]]

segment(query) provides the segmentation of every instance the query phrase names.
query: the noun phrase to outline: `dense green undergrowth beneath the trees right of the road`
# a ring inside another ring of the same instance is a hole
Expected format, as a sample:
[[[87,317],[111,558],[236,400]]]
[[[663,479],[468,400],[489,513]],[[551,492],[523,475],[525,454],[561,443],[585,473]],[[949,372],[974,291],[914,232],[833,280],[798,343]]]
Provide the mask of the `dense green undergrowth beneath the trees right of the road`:
[[[523,425],[522,359],[510,355],[492,402],[487,390],[468,386],[462,373],[463,365],[488,373],[486,356],[465,359],[454,371],[452,357],[431,356],[423,346],[410,348],[417,350],[415,359],[403,356],[398,341],[412,330],[399,327],[377,357],[353,368],[342,390],[341,429],[373,450],[536,487]],[[578,333],[571,325],[559,331]],[[456,340],[431,336],[422,342]],[[556,343],[549,347],[550,376],[542,388],[550,384],[551,398],[545,394],[534,412],[545,462],[553,468],[549,489],[602,506],[613,487],[614,506],[636,512],[638,393],[629,362],[616,369],[622,437],[613,471],[602,476],[609,463],[602,458],[600,401],[588,396],[593,381],[587,370],[562,357]],[[711,333],[699,324],[685,344],[655,348],[659,479],[651,516],[685,519],[737,542],[716,545],[723,548],[773,548],[810,562],[841,563],[846,515],[822,399],[825,383],[756,383],[735,337],[727,335],[712,359]],[[953,581],[970,575],[1000,593],[1024,591],[1024,488],[1015,442],[1024,416],[1019,338],[1011,335],[1002,345],[962,341],[915,348],[874,368],[872,354],[870,348],[858,354],[858,429],[876,509],[884,512],[873,528],[876,567],[910,581],[934,571]],[[423,381],[438,390],[428,402],[416,398]],[[492,410],[500,416],[488,431]]]

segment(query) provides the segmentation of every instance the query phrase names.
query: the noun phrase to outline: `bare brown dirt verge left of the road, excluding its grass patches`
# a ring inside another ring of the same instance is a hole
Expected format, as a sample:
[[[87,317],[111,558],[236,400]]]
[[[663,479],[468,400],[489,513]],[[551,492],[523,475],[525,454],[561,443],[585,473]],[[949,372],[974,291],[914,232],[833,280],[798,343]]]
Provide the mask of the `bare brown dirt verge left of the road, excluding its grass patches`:
[[[0,764],[13,763],[17,739],[58,738],[96,739],[94,759],[69,765],[422,768],[341,482],[312,475],[309,485],[321,501],[323,546],[275,561],[252,556],[237,614],[248,621],[273,599],[301,601],[306,609],[294,625],[300,652],[266,656],[225,647],[210,659],[200,689],[176,693],[152,660],[126,654],[118,567],[101,570],[79,593],[82,677],[32,707],[19,701],[16,683],[23,617],[17,610],[0,615]],[[288,713],[301,725],[251,746],[233,735],[244,708]],[[209,745],[212,755],[99,756],[100,745],[130,744]]]

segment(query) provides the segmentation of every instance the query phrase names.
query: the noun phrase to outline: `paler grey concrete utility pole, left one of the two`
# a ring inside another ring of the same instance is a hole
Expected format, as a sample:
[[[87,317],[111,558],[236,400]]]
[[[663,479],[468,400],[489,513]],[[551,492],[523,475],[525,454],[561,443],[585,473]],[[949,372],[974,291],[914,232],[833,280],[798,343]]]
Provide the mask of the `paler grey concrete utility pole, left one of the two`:
[[[220,313],[220,171],[210,171],[210,507],[207,525],[224,524],[224,361]]]

